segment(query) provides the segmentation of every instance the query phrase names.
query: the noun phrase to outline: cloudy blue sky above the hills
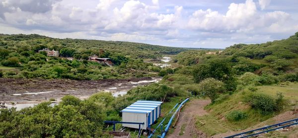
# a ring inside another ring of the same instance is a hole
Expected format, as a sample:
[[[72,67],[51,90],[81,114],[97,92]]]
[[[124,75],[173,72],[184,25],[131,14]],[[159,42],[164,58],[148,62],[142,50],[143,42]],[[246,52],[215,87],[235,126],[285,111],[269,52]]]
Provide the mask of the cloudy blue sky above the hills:
[[[298,0],[0,0],[0,33],[224,48],[298,31]]]

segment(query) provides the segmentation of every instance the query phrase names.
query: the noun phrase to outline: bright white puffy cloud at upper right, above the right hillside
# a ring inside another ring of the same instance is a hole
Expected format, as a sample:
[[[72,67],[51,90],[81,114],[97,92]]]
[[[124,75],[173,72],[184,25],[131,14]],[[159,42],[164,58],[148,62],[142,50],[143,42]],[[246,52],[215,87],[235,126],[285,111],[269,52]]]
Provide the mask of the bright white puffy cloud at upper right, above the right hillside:
[[[264,30],[272,24],[280,27],[292,22],[289,13],[284,11],[260,12],[252,0],[245,3],[231,3],[225,14],[211,9],[195,11],[188,21],[192,29],[205,31],[233,32],[256,32]],[[277,30],[278,31],[278,30]]]

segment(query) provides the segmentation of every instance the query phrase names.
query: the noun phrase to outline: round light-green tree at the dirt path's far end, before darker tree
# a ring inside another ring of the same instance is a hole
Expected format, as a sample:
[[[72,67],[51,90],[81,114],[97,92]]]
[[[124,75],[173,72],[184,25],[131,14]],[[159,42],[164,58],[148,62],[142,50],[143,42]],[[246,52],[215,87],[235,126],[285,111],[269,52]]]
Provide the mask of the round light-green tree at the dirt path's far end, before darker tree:
[[[199,83],[201,93],[211,99],[214,103],[219,97],[219,93],[224,91],[224,83],[214,78],[207,78]]]

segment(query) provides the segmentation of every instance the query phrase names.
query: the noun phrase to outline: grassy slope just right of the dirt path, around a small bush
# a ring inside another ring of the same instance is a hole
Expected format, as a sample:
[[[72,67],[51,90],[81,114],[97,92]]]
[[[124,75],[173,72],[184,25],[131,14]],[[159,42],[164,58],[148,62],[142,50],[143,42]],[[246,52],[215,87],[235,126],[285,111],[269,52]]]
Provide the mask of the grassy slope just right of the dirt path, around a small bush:
[[[209,111],[209,115],[197,117],[197,128],[208,136],[213,136],[227,131],[241,131],[274,116],[274,114],[262,115],[259,111],[252,109],[243,102],[244,96],[245,92],[238,92],[231,96],[222,95],[221,101],[205,107]],[[247,118],[240,121],[226,120],[225,116],[233,110],[244,112]],[[199,121],[204,122],[205,125],[202,125]]]

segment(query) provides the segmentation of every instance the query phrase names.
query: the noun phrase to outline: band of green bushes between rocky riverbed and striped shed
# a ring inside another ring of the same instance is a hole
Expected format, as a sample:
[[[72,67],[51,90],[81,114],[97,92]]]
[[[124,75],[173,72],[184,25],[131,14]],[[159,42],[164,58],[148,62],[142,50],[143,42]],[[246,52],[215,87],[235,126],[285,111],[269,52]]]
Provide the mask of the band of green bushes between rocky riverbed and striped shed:
[[[125,96],[113,97],[111,93],[97,93],[87,100],[74,96],[63,97],[59,105],[44,102],[21,111],[0,109],[0,136],[15,137],[72,137],[104,138],[107,126],[104,120],[120,121],[120,112],[137,100],[169,101],[179,93],[172,88],[152,84],[137,87]],[[109,127],[107,130],[111,130]]]

